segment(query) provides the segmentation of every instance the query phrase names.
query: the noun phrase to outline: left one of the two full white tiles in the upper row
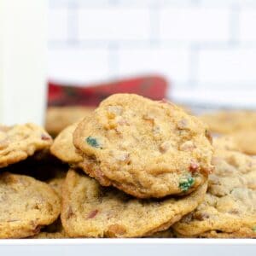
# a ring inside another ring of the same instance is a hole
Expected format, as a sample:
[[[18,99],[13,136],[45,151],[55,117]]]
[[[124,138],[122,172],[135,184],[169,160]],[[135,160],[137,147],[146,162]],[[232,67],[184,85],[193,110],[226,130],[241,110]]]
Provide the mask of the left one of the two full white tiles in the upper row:
[[[79,9],[79,40],[149,40],[145,9]]]

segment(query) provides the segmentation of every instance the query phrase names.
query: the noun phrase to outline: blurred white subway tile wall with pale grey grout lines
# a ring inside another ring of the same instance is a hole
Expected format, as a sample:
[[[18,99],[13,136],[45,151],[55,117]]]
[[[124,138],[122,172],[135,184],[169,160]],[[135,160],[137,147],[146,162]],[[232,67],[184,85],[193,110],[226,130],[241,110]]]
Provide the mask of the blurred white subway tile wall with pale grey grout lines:
[[[256,0],[49,0],[49,78],[154,73],[178,100],[218,102],[220,91],[242,105],[242,90],[246,105],[256,96],[255,26]]]

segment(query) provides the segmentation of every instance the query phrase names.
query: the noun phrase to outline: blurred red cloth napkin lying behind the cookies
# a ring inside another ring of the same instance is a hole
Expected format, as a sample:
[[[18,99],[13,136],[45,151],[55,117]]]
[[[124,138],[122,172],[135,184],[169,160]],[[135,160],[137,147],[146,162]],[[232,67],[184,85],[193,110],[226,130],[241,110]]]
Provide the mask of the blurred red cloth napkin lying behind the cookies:
[[[121,79],[102,84],[76,86],[49,82],[48,106],[97,106],[114,93],[136,93],[153,100],[166,97],[167,81],[160,76]]]

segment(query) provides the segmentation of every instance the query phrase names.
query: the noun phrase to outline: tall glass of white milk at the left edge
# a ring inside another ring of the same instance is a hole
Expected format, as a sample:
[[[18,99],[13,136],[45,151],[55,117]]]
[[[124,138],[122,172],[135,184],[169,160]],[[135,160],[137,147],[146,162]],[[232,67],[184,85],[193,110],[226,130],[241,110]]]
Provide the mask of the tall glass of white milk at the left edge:
[[[47,0],[0,0],[0,124],[43,124]]]

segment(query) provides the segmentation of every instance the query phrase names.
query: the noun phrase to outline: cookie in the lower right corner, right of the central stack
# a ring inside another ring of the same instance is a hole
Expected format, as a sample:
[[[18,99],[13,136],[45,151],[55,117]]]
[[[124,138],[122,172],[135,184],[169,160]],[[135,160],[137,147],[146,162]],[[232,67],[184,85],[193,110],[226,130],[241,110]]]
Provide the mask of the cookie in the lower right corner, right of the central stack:
[[[256,159],[216,152],[205,201],[173,230],[182,236],[256,237]]]

